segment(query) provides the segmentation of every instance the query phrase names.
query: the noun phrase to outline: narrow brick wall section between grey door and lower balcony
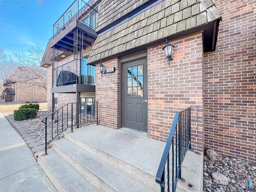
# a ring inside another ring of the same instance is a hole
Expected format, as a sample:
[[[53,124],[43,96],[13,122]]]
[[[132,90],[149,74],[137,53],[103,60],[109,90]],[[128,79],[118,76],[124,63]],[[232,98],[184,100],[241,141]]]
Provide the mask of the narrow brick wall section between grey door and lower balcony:
[[[98,120],[103,126],[119,128],[119,60],[117,58],[103,63],[105,68],[115,67],[113,73],[103,74],[96,65],[96,101],[98,101]]]

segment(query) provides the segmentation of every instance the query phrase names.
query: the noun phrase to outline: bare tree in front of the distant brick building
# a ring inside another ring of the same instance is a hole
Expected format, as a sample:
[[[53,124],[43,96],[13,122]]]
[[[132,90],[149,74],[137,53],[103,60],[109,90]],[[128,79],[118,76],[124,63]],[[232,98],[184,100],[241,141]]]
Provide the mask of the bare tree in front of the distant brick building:
[[[41,46],[32,46],[28,54],[15,53],[16,60],[12,60],[19,66],[12,74],[13,80],[22,83],[24,86],[36,85],[47,91],[47,70],[40,67],[44,50]]]

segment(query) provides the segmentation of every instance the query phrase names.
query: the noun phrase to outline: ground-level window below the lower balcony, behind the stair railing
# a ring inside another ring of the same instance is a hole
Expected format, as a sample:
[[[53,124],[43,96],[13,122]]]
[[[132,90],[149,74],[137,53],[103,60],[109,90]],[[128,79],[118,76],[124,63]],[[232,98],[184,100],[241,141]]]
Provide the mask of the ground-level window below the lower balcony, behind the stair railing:
[[[80,98],[81,107],[80,114],[81,115],[91,115],[95,116],[95,98]]]

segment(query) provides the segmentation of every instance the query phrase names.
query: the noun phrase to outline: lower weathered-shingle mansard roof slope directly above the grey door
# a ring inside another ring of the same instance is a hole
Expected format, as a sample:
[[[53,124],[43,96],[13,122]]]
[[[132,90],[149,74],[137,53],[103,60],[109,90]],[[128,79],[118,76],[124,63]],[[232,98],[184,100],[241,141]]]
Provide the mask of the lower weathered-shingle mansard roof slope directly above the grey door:
[[[123,0],[114,2],[120,4]],[[192,29],[195,29],[194,32],[202,31],[207,24],[218,21],[217,25],[212,24],[212,28],[204,34],[204,38],[214,38],[212,40],[214,45],[210,44],[208,46],[210,48],[205,51],[215,48],[221,15],[211,0],[159,0],[157,2],[151,8],[145,8],[135,16],[99,34],[92,46],[88,63],[93,64],[137,47],[146,47],[157,42],[159,44],[159,40],[164,42],[168,37],[168,40],[172,40],[178,37],[177,34],[184,35],[182,32],[191,34]],[[114,4],[111,6],[113,8]],[[100,14],[102,14],[101,10]],[[110,16],[107,20],[112,18],[114,17]],[[102,20],[103,18],[99,20],[99,24]],[[207,46],[206,43],[204,46]]]

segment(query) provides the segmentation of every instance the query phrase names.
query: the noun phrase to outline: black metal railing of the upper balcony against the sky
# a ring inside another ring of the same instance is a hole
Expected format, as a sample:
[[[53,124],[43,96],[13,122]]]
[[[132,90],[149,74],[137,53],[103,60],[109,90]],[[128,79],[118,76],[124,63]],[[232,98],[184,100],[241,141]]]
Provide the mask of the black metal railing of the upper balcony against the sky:
[[[82,23],[95,29],[97,17],[98,11],[83,0],[75,0],[53,25],[53,38],[60,34],[74,20],[80,20]]]

